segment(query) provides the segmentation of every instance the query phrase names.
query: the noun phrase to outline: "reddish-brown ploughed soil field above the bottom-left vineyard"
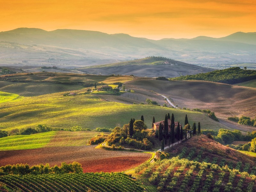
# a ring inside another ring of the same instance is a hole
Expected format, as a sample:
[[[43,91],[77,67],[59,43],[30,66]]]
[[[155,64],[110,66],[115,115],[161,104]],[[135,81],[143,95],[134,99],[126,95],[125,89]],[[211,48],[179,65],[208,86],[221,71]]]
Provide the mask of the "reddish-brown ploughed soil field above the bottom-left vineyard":
[[[50,147],[0,151],[0,166],[17,163],[49,163],[53,166],[77,161],[82,164],[84,172],[120,172],[136,167],[150,157],[148,153],[95,149],[95,145]]]

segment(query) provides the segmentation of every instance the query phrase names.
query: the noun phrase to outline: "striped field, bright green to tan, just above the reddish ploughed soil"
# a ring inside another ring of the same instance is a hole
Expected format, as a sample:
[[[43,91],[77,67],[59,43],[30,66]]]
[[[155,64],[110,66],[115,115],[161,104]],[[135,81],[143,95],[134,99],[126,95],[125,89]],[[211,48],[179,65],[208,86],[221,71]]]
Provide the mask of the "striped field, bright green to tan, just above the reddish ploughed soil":
[[[51,131],[32,135],[13,135],[0,138],[0,151],[43,147],[81,146],[98,135],[93,131]]]

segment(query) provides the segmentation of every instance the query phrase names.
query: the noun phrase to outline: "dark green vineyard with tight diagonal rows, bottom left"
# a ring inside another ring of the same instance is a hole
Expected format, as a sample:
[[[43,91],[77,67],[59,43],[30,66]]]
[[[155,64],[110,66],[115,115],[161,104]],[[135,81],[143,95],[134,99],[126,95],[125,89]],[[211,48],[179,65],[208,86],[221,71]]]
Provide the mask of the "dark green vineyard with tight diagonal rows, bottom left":
[[[124,173],[66,173],[43,175],[5,175],[0,177],[4,191],[144,191],[137,181]]]

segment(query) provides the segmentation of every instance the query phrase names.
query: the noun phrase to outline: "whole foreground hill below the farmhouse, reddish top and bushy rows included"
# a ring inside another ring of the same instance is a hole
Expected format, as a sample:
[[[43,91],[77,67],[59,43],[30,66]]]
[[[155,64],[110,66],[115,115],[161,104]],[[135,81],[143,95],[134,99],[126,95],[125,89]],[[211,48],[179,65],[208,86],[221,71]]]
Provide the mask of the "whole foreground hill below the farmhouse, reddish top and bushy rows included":
[[[135,170],[148,191],[252,192],[256,189],[256,158],[204,135],[166,151],[171,159],[145,163]]]

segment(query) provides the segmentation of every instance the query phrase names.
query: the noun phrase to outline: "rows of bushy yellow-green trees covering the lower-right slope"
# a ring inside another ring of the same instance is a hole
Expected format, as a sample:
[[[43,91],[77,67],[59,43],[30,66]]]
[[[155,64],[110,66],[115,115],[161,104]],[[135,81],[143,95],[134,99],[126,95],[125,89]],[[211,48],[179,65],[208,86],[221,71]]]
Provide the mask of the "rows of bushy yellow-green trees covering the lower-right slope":
[[[220,167],[217,164],[189,161],[180,156],[136,168],[139,179],[156,186],[156,191],[178,192],[252,192],[256,190],[255,175]],[[248,170],[248,169],[247,169]]]

